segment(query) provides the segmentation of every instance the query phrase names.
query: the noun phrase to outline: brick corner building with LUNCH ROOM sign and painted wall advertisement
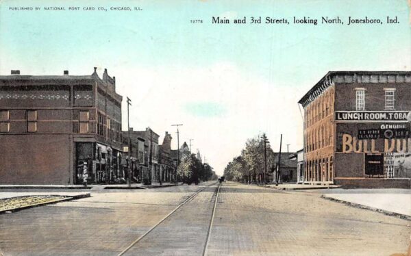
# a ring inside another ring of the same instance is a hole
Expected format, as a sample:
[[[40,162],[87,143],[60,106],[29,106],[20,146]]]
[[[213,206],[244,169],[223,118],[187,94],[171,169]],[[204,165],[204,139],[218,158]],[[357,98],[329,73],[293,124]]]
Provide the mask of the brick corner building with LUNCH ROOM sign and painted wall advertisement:
[[[304,107],[304,179],[408,187],[411,72],[329,72]]]

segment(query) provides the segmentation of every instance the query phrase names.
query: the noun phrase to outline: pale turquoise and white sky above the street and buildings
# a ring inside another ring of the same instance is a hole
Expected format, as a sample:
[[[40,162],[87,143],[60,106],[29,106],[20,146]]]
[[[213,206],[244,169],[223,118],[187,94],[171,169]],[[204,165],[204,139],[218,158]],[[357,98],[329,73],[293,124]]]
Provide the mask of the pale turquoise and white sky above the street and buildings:
[[[34,10],[12,10],[23,7]],[[213,16],[247,23],[213,24]],[[262,24],[250,24],[251,16]],[[290,24],[264,24],[266,16]],[[344,24],[297,25],[294,16],[339,16]],[[349,16],[383,23],[347,25]],[[386,24],[386,16],[399,23]],[[90,75],[96,66],[101,77],[107,68],[117,92],[132,99],[134,130],[151,127],[160,142],[169,131],[176,149],[171,125],[183,124],[180,145],[193,139],[192,151],[222,175],[261,133],[275,151],[280,134],[282,151],[301,149],[297,102],[328,71],[410,71],[410,29],[406,0],[0,0],[0,75]],[[123,129],[126,111],[123,101]]]

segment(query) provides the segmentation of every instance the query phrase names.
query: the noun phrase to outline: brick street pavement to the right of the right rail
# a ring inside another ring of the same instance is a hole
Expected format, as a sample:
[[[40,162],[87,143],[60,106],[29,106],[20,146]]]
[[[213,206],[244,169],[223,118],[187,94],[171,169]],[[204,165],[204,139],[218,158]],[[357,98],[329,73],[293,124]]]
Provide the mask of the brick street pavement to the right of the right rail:
[[[410,224],[320,198],[223,185],[210,255],[391,255],[405,253]]]

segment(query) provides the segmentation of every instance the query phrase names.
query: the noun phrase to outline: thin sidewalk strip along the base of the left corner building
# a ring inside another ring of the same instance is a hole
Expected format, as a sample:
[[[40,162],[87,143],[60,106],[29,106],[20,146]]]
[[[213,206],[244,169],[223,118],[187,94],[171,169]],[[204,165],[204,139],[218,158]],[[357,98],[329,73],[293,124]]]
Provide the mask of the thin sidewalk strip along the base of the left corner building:
[[[128,184],[90,184],[87,188],[84,185],[0,185],[0,190],[13,190],[13,189],[27,189],[27,190],[55,190],[55,189],[63,189],[63,190],[107,190],[107,189],[146,189],[146,188],[165,188],[170,187],[173,185],[181,185],[181,183],[156,183],[153,182],[151,185],[142,185],[142,183],[132,183],[129,187]]]

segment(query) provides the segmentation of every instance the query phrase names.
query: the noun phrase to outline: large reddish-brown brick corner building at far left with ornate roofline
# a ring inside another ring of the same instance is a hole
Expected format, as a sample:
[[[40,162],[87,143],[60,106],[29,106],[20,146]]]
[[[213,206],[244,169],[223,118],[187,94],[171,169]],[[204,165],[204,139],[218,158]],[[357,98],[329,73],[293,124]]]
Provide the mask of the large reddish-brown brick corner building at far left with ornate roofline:
[[[0,183],[75,184],[121,170],[121,95],[107,70],[0,76]]]

